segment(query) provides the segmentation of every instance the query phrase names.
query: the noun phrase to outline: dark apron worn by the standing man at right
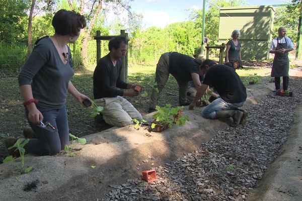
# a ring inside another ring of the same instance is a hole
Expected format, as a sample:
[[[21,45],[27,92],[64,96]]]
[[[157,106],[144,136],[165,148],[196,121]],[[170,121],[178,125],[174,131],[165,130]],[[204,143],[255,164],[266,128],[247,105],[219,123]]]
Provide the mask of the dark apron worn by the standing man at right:
[[[287,49],[287,41],[286,38],[285,43],[279,43],[279,39],[277,38],[277,47],[276,50],[279,49]],[[289,71],[289,59],[288,59],[288,52],[285,53],[275,53],[274,61],[273,61],[273,67],[271,72],[271,77],[288,77]]]

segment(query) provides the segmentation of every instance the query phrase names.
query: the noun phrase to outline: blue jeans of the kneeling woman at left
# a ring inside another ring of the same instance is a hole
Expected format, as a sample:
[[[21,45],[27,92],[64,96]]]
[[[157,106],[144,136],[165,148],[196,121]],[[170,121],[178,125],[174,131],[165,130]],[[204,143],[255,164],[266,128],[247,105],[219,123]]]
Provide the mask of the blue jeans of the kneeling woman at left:
[[[60,153],[60,151],[64,149],[64,146],[69,144],[69,128],[66,107],[64,106],[61,109],[38,107],[38,110],[44,117],[43,123],[49,122],[56,127],[57,130],[55,132],[51,132],[28,121],[35,132],[37,139],[30,139],[30,141],[24,146],[26,152],[42,156]],[[25,114],[28,118],[27,109],[25,110]]]

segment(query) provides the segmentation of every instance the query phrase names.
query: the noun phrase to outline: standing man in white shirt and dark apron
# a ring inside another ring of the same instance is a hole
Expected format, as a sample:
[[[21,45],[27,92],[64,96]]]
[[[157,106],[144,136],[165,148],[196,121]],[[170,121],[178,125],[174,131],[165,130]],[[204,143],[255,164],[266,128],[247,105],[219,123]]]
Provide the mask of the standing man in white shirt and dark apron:
[[[278,37],[273,39],[269,53],[275,54],[271,77],[275,77],[276,90],[280,89],[280,77],[283,77],[283,90],[288,89],[289,60],[288,52],[293,50],[293,44],[286,35],[285,27],[278,29]]]

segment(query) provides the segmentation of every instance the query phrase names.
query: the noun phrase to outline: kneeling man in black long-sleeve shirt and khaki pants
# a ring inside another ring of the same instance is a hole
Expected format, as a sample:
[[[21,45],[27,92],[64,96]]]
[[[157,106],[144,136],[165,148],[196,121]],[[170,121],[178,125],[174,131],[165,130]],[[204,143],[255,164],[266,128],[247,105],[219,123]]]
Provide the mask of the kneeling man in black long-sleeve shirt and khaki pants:
[[[115,37],[109,41],[109,54],[101,58],[93,74],[95,103],[104,107],[101,112],[104,121],[112,126],[123,127],[132,124],[132,119],[141,120],[140,113],[122,96],[136,96],[134,85],[121,80],[121,58],[127,51],[125,37]],[[117,89],[131,89],[120,90]]]

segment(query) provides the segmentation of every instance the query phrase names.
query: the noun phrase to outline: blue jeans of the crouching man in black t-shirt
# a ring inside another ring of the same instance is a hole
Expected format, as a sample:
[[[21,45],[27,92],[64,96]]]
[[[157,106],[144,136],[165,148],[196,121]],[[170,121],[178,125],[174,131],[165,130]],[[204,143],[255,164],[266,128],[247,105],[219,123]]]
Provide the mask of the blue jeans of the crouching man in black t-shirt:
[[[219,97],[215,99],[210,105],[205,107],[201,115],[206,119],[216,119],[216,111],[237,109],[243,106],[244,103],[245,101],[240,103],[230,104],[230,103],[226,103],[221,97]]]

